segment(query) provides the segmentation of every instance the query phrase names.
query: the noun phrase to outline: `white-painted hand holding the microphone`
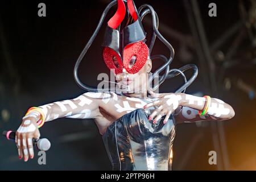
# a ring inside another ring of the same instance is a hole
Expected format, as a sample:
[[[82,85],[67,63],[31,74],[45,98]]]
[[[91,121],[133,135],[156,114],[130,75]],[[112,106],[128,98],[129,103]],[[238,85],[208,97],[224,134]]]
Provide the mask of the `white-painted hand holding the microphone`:
[[[31,159],[34,158],[33,138],[39,139],[40,132],[38,130],[38,125],[36,125],[36,117],[31,115],[23,118],[22,124],[16,131],[15,136],[19,159],[24,158],[24,162],[27,162],[28,156]]]

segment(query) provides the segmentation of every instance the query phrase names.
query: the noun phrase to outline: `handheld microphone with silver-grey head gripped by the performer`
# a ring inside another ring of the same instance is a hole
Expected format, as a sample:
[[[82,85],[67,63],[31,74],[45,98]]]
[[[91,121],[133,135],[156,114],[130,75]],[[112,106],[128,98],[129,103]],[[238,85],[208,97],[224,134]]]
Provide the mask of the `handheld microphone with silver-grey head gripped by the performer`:
[[[14,131],[3,131],[3,136],[6,137],[8,140],[13,140],[15,142],[15,135]],[[51,142],[47,138],[42,139],[32,139],[33,145],[37,146],[39,150],[47,151],[51,147]]]

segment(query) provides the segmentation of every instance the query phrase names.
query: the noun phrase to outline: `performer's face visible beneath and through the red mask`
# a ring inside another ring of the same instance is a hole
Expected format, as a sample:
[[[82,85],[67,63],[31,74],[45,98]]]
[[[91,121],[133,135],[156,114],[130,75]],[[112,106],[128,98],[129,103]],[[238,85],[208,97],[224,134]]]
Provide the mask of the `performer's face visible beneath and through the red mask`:
[[[137,57],[132,56],[128,64],[129,68],[132,68],[136,61]],[[118,60],[114,61],[114,64],[118,65]],[[123,93],[147,93],[148,72],[151,71],[151,67],[151,60],[147,59],[146,64],[137,73],[128,73],[123,68],[121,73],[115,74],[118,87],[123,90]]]

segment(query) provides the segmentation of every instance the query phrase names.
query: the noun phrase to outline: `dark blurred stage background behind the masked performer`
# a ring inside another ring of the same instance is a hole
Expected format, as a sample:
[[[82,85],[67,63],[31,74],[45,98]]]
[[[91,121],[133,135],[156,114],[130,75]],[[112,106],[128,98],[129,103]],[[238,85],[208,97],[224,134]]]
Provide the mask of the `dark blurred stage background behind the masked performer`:
[[[46,3],[46,17],[38,16],[40,2]],[[75,98],[84,92],[73,79],[73,67],[109,2],[0,2],[1,132],[18,129],[31,106]],[[217,17],[208,16],[211,2],[217,5]],[[236,111],[229,121],[178,125],[173,169],[256,170],[256,2],[135,0],[137,8],[143,3],[154,7],[159,31],[175,49],[171,68],[189,63],[199,67],[199,75],[186,93],[210,94]],[[113,15],[114,9],[111,12]],[[150,34],[150,15],[143,22]],[[101,57],[104,29],[102,26],[80,67],[81,79],[94,86],[98,73],[108,72]],[[169,56],[159,40],[153,50],[152,55]],[[153,64],[156,68],[159,63]],[[174,92],[181,84],[181,78],[167,80],[160,92]],[[38,164],[39,156],[26,163],[19,160],[15,144],[2,137],[0,169],[111,169],[92,120],[57,119],[47,122],[40,133],[52,143],[46,165]],[[211,166],[208,152],[212,150],[217,151],[217,165]]]

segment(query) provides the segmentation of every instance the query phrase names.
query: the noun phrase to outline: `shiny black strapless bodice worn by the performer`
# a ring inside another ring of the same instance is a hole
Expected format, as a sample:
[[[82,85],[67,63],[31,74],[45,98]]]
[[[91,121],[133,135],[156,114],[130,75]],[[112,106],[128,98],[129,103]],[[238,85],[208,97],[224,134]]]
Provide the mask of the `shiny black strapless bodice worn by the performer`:
[[[171,170],[175,121],[148,121],[144,109],[123,115],[102,136],[113,170]]]

